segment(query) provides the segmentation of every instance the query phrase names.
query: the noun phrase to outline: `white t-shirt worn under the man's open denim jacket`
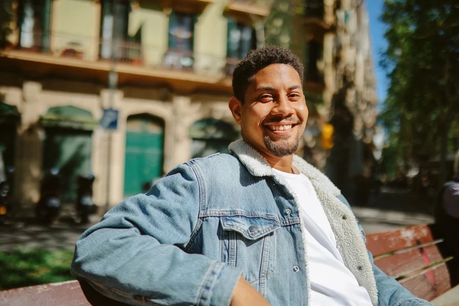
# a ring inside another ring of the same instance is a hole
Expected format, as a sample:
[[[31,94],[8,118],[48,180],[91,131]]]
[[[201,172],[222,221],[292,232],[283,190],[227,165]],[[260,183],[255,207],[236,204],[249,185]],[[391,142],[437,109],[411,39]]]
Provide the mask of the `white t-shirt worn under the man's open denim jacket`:
[[[364,287],[343,263],[336,247],[335,234],[317,198],[316,191],[304,174],[292,174],[276,169],[298,197],[303,220],[311,283],[310,305],[372,305]]]

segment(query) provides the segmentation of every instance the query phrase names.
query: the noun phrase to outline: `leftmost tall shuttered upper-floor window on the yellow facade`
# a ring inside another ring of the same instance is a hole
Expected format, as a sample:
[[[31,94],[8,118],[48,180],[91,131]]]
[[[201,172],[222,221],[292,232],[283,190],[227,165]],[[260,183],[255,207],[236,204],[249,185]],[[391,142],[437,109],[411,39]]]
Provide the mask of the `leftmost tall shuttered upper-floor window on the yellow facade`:
[[[19,2],[19,46],[42,51],[49,49],[52,0]]]

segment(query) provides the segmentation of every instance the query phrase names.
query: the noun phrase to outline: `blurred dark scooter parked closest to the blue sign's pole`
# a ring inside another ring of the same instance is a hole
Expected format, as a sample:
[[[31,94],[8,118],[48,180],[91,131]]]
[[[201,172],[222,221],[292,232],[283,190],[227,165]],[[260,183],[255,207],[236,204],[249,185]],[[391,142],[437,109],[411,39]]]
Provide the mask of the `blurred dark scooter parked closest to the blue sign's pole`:
[[[92,184],[95,177],[92,172],[78,176],[77,215],[81,223],[89,222],[89,215],[95,210],[92,200]]]

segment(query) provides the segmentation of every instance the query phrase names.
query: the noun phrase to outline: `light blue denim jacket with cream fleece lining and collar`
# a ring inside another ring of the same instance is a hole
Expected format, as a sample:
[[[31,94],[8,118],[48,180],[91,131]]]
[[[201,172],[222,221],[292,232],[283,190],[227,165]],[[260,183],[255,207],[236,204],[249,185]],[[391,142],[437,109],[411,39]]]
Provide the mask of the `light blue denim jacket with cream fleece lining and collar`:
[[[296,195],[250,145],[238,140],[230,150],[179,165],[110,210],[78,240],[75,278],[133,305],[227,306],[242,275],[273,306],[312,305]],[[340,190],[298,156],[293,164],[309,177],[372,304],[431,305],[373,264]]]

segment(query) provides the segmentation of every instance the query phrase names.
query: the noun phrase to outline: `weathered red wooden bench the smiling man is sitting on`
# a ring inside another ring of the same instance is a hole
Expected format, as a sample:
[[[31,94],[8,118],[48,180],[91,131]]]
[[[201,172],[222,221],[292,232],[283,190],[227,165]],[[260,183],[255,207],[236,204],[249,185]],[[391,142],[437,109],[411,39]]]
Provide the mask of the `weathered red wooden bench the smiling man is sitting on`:
[[[375,264],[416,296],[438,306],[459,305],[459,287],[450,290],[447,263],[452,257],[442,255],[442,239],[435,233],[435,225],[406,227],[367,235],[367,246]],[[0,306],[7,305],[125,306],[98,294],[86,282],[78,281],[2,291]]]

